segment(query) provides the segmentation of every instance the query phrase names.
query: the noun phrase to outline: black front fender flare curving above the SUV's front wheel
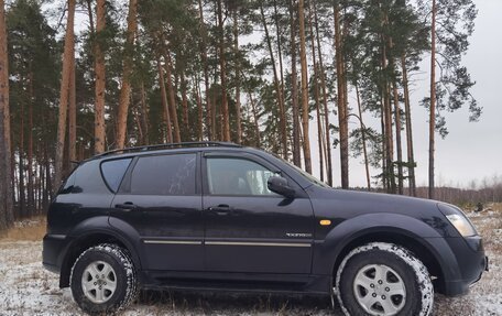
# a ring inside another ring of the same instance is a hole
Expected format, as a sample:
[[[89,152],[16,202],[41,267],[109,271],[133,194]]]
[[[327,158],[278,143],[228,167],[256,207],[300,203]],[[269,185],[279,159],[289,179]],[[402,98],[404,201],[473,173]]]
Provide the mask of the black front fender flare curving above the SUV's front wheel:
[[[400,236],[412,238],[435,257],[446,280],[457,280],[460,276],[457,258],[437,230],[410,216],[381,213],[347,219],[335,226],[325,240],[316,240],[313,273],[330,275],[339,255],[350,243],[373,233],[395,235],[395,242],[399,242]]]

